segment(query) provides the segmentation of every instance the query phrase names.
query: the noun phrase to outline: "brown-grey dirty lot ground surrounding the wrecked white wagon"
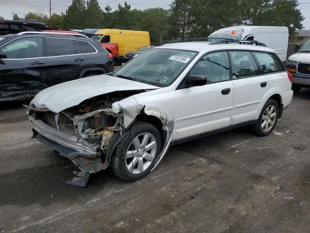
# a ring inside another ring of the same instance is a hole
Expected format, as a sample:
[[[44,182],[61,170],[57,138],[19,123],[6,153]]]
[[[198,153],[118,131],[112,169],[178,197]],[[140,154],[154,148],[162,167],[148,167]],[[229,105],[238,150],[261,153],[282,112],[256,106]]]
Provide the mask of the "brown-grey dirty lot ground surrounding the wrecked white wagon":
[[[71,162],[31,139],[22,103],[0,104],[0,233],[310,232],[310,89],[267,137],[194,140],[138,182],[105,170],[86,188],[64,183]]]

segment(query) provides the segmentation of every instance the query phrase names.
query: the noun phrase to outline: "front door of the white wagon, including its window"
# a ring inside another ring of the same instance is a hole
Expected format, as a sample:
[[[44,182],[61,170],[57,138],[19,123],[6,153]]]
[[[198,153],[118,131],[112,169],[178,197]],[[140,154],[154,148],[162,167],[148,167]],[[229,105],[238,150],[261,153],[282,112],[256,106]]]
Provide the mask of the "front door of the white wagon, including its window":
[[[193,136],[230,125],[233,81],[227,51],[206,54],[189,75],[204,75],[207,84],[175,91],[173,139]]]

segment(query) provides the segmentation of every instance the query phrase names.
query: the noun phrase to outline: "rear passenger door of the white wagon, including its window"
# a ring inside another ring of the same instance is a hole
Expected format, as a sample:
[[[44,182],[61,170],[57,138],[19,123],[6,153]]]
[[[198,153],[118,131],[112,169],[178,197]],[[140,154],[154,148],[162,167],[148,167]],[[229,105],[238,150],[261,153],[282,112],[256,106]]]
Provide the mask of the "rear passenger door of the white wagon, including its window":
[[[234,125],[255,119],[270,85],[249,51],[230,51],[230,57],[234,85],[231,123]]]

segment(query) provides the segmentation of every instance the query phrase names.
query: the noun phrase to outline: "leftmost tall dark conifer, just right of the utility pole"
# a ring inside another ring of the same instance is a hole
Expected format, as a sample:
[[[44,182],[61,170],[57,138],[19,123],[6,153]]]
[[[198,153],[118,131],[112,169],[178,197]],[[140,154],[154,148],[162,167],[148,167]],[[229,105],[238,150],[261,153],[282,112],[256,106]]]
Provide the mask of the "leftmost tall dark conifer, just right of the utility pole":
[[[67,29],[85,29],[88,27],[85,22],[86,18],[85,0],[73,0],[66,10],[64,26]]]

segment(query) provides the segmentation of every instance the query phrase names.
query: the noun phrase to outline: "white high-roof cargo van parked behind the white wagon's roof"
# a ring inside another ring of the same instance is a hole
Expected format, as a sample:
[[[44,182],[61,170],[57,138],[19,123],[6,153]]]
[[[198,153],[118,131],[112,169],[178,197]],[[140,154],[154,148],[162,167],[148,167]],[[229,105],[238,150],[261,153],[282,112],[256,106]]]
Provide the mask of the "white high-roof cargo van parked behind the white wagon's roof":
[[[281,61],[286,60],[289,30],[287,27],[234,26],[222,28],[208,37],[232,38],[236,40],[257,40],[276,51]]]

